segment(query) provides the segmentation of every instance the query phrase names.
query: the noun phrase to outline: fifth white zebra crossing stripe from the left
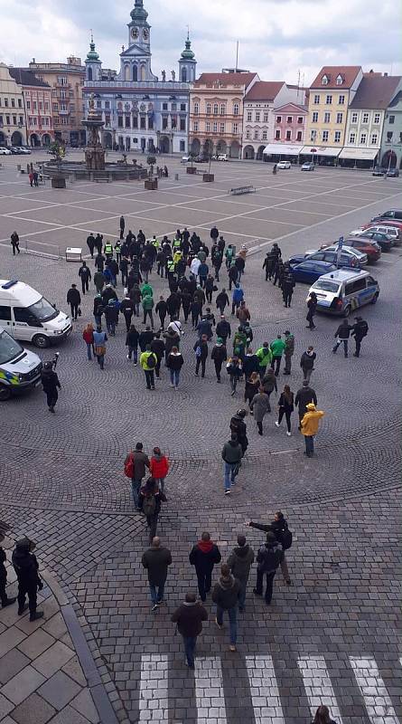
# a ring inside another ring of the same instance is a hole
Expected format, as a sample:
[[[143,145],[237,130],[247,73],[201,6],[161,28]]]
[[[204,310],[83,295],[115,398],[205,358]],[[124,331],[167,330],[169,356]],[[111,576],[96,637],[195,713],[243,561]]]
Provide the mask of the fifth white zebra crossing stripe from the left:
[[[364,659],[350,656],[349,661],[371,724],[398,724],[397,715],[375,659],[370,656]]]

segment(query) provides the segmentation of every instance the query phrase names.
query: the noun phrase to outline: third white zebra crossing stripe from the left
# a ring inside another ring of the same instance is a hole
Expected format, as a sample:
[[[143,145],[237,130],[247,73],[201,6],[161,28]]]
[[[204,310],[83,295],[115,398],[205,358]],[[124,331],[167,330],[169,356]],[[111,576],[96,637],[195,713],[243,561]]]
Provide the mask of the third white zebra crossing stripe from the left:
[[[272,656],[246,656],[256,724],[285,724]]]

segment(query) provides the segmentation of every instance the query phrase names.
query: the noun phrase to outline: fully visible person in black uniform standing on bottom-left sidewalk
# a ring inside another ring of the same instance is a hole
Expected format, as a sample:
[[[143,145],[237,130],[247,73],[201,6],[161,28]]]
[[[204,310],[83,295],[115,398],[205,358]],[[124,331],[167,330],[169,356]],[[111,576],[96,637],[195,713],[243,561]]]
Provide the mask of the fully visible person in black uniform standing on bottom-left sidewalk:
[[[17,540],[13,551],[12,563],[18,581],[18,615],[26,610],[25,596],[28,595],[29,620],[42,618],[43,612],[36,610],[36,592],[41,581],[38,576],[38,562],[31,552],[34,544],[28,538]]]

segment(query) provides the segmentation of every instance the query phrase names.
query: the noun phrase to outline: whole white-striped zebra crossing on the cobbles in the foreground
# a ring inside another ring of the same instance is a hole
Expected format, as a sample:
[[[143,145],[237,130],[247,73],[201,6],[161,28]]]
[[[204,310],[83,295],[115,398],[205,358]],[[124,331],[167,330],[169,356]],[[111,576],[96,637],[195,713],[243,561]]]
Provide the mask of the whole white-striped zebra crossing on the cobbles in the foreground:
[[[193,672],[182,672],[185,681],[193,677],[195,702],[194,719],[197,724],[230,724],[225,700],[225,658],[220,656],[198,656]],[[369,724],[402,724],[394,709],[387,687],[381,677],[379,666],[372,656],[349,656],[351,667],[352,699],[364,703],[363,722]],[[244,660],[252,704],[250,721],[255,724],[286,724],[285,707],[287,692],[281,694],[276,675],[276,658],[267,654],[247,655]],[[402,659],[397,662],[402,664]],[[233,659],[230,660],[233,666]],[[309,722],[320,704],[326,704],[337,724],[347,724],[347,715],[342,716],[342,694],[335,694],[334,684],[323,655],[303,655],[296,660],[297,671],[303,681],[304,697],[307,702],[301,722]],[[341,671],[347,668],[341,666]],[[233,668],[231,668],[233,672]],[[399,676],[401,671],[399,670]],[[139,722],[166,722],[172,719],[169,710],[174,707],[173,691],[181,691],[177,668],[170,667],[168,654],[144,653],[141,657],[141,679],[139,684]],[[227,680],[226,680],[227,681]],[[236,679],[232,679],[236,688]],[[348,696],[351,689],[348,688]],[[338,690],[339,691],[339,690]],[[395,692],[394,692],[395,693]],[[402,688],[399,693],[402,693]],[[346,694],[345,694],[346,696]],[[240,702],[241,704],[241,702]],[[345,706],[343,706],[345,709]],[[244,718],[244,713],[242,714]]]

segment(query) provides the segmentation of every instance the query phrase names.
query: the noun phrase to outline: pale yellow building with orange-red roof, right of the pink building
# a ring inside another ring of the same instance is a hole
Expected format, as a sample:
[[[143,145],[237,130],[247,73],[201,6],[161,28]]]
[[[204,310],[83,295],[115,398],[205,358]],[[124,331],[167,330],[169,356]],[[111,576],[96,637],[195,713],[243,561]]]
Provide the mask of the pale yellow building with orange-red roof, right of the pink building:
[[[310,86],[304,154],[338,157],[345,143],[348,107],[359,88],[359,65],[324,66]],[[309,147],[309,148],[307,148]]]

